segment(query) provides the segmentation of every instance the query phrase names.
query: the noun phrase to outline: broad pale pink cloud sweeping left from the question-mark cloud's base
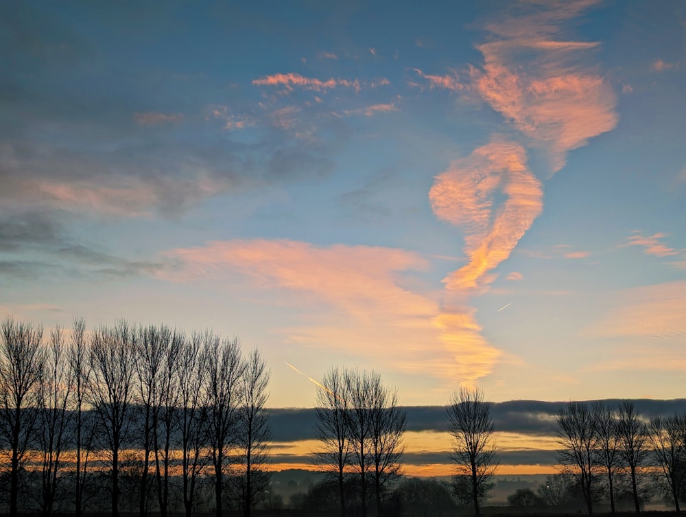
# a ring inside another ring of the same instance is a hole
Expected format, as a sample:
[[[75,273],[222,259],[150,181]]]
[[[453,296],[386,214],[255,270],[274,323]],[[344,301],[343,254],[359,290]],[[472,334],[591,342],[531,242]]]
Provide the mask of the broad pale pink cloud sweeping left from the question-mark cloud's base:
[[[438,303],[406,285],[407,275],[428,262],[401,249],[372,246],[315,246],[292,240],[232,240],[174,249],[167,257],[176,271],[158,273],[180,282],[209,279],[215,286],[258,299],[264,305],[300,308],[302,321],[272,329],[289,343],[351,350],[452,381],[470,377],[465,343],[449,348],[437,321],[447,323]],[[313,309],[314,308],[314,309]],[[297,320],[296,320],[297,321]],[[449,325],[466,335],[469,319]],[[460,330],[461,329],[461,330]],[[495,352],[494,352],[495,353]],[[482,371],[483,350],[473,351],[474,371]],[[443,365],[440,371],[427,358]],[[453,361],[453,358],[459,358]],[[475,374],[471,374],[473,378]]]

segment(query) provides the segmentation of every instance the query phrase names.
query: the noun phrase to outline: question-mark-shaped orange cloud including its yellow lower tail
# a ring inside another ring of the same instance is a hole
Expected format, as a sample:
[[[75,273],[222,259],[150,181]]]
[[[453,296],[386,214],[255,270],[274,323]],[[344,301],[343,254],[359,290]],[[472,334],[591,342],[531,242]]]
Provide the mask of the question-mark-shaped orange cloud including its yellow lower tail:
[[[443,311],[434,323],[466,384],[490,374],[501,356],[482,335],[466,297],[493,281],[490,271],[510,256],[543,207],[541,183],[526,161],[519,144],[493,141],[451,163],[429,192],[436,216],[462,227],[465,235],[469,260],[443,280]],[[496,194],[505,200],[494,207]]]

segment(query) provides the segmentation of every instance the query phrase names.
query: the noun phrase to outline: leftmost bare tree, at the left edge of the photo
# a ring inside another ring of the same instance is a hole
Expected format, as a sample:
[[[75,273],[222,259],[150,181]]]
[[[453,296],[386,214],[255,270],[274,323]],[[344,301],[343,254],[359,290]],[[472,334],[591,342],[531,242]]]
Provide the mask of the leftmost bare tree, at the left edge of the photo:
[[[16,517],[19,472],[36,430],[38,387],[43,375],[43,328],[2,323],[0,342],[0,437],[9,447],[10,517]]]

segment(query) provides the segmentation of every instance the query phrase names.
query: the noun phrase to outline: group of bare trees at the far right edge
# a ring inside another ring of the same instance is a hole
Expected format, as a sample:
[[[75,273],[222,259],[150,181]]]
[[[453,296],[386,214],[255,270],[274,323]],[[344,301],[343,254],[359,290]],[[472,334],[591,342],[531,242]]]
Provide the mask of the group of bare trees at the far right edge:
[[[686,494],[686,415],[648,420],[630,401],[617,407],[570,402],[558,414],[556,433],[563,446],[558,461],[576,481],[589,514],[599,494],[615,513],[618,476],[628,479],[636,512],[655,489],[680,511]]]

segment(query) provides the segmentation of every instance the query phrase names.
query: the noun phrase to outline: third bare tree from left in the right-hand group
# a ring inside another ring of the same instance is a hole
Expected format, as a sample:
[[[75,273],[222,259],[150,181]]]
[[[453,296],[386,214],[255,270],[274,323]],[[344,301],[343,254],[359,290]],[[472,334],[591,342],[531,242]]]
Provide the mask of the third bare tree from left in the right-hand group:
[[[648,426],[641,420],[633,402],[625,400],[619,406],[617,434],[620,444],[619,455],[622,457],[624,466],[628,468],[631,478],[634,507],[636,512],[640,512],[642,498],[639,495],[639,476],[650,450],[648,448]]]

